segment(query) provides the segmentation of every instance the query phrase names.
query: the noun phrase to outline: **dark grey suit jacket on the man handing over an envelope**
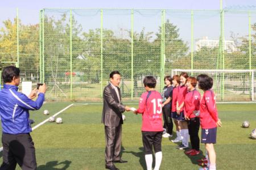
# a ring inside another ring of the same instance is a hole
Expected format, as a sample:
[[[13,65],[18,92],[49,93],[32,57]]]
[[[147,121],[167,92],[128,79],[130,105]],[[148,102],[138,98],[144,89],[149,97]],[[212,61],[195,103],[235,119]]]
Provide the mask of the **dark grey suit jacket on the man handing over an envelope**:
[[[121,100],[120,88],[118,88],[119,97]],[[123,124],[122,112],[125,112],[125,105],[118,101],[117,93],[112,85],[109,83],[104,88],[103,92],[103,110],[101,122],[105,126],[117,127]]]

